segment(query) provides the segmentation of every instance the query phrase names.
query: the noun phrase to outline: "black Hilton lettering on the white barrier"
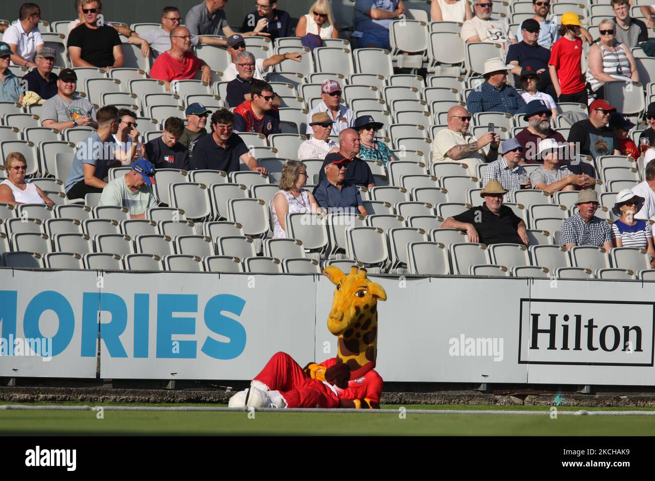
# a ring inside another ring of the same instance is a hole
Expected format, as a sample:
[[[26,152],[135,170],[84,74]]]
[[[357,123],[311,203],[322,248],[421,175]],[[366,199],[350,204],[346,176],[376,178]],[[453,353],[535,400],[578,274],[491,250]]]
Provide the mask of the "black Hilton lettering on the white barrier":
[[[583,332],[586,330],[587,346],[588,351],[597,351],[599,348],[603,351],[616,351],[619,346],[623,346],[622,351],[633,350],[635,352],[642,352],[641,347],[641,327],[639,326],[621,326],[619,327],[614,325],[606,325],[603,329],[595,331],[600,326],[593,323],[593,317],[588,319],[586,324],[582,324],[582,315],[576,314],[569,316],[565,314],[561,317],[561,323],[558,327],[557,317],[559,314],[548,314],[550,317],[550,326],[548,329],[539,329],[539,313],[532,314],[532,330],[531,330],[531,343],[530,349],[539,349],[539,339],[544,336],[539,336],[539,334],[548,334],[548,347],[546,349],[560,349],[561,351],[582,351],[585,347],[582,345],[583,342]],[[545,317],[545,316],[544,316]],[[571,323],[569,323],[571,321]],[[542,326],[544,324],[542,323]],[[572,328],[572,329],[569,329]],[[561,347],[555,346],[555,336],[557,330],[561,330]],[[572,330],[572,343],[569,342],[569,332]],[[611,334],[608,334],[611,332]],[[634,332],[634,339],[630,339],[631,332]],[[597,340],[597,345],[594,344],[594,341]],[[609,341],[609,345],[608,345]],[[543,347],[543,345],[542,345]]]

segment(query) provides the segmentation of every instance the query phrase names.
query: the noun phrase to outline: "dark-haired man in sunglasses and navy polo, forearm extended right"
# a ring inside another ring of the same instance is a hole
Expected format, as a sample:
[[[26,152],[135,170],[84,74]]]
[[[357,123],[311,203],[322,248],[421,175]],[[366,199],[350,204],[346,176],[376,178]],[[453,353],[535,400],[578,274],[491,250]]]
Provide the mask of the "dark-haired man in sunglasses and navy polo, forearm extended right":
[[[267,169],[259,167],[250,155],[246,143],[233,133],[233,124],[233,113],[227,109],[218,109],[212,114],[212,135],[205,135],[196,142],[191,169],[236,172],[241,160],[250,170],[268,175]]]

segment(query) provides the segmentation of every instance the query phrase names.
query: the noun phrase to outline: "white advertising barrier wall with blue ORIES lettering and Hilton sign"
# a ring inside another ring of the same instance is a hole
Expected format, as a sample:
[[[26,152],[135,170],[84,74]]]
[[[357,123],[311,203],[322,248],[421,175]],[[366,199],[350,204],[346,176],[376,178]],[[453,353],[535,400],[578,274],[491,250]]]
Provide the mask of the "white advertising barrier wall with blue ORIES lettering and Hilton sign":
[[[370,277],[388,295],[385,381],[655,385],[655,283]],[[322,361],[333,293],[322,276],[0,269],[0,376],[94,378],[98,323],[102,378],[243,380],[276,351]]]

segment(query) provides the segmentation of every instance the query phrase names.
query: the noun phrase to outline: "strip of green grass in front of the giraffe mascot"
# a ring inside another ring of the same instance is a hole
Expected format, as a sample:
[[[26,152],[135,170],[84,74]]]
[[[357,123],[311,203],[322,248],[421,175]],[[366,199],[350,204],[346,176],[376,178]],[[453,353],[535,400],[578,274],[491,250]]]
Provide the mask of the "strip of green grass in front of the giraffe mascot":
[[[15,404],[0,401],[0,404]],[[93,403],[41,403],[82,405]],[[109,405],[109,403],[104,404]],[[115,404],[113,404],[115,405]],[[146,405],[146,404],[130,404]],[[151,404],[147,404],[151,405]],[[175,406],[179,404],[158,404]],[[206,406],[206,404],[185,404]],[[405,406],[408,409],[548,410],[547,406]],[[398,410],[398,406],[386,405]],[[560,407],[559,410],[579,410]],[[642,410],[586,408],[586,410]],[[643,409],[646,410],[646,409]],[[653,410],[650,408],[649,410]],[[655,416],[502,416],[458,414],[0,411],[0,435],[652,435]]]

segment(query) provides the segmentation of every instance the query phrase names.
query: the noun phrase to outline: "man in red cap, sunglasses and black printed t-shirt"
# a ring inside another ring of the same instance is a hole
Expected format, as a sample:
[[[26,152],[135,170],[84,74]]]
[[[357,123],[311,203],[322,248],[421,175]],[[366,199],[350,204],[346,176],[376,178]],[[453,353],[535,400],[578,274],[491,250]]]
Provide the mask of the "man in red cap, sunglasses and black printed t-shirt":
[[[590,155],[620,155],[612,129],[607,127],[610,115],[616,108],[605,100],[594,100],[589,105],[589,118],[578,120],[569,131],[569,145],[574,152]]]

